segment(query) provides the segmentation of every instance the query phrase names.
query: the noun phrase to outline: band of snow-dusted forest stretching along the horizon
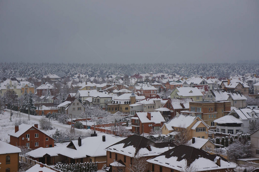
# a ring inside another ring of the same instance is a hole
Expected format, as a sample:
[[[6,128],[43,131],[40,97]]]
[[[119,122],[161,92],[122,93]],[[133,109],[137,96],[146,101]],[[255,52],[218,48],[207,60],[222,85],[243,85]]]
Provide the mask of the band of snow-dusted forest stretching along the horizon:
[[[258,63],[0,63],[0,77],[36,77],[56,74],[72,76],[77,73],[87,74],[89,77],[105,77],[107,75],[135,73],[176,73],[185,76],[219,76],[244,75],[246,73],[258,74]]]

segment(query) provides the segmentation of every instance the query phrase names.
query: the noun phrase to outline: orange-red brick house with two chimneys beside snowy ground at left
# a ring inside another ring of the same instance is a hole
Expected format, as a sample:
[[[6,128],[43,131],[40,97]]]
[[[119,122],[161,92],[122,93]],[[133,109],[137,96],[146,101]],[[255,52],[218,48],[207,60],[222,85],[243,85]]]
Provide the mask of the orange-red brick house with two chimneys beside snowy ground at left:
[[[15,125],[15,131],[10,136],[10,144],[13,146],[26,146],[28,149],[39,147],[54,147],[54,139],[38,129],[38,124]]]

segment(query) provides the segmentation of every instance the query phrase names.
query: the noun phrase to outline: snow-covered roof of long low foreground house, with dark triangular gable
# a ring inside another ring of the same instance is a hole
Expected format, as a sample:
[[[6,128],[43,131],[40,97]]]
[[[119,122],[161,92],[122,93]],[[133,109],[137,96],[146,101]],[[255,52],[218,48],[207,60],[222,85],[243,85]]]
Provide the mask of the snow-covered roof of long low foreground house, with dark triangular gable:
[[[105,136],[105,142],[102,141],[102,136],[86,137],[85,139],[81,140],[81,146],[78,145],[78,140],[73,140],[67,146],[38,148],[28,152],[27,155],[30,155],[34,158],[39,158],[43,157],[45,154],[51,156],[57,156],[58,154],[61,154],[74,159],[85,158],[87,156],[106,156],[106,147],[125,139],[122,137],[115,138],[108,134],[103,135]]]

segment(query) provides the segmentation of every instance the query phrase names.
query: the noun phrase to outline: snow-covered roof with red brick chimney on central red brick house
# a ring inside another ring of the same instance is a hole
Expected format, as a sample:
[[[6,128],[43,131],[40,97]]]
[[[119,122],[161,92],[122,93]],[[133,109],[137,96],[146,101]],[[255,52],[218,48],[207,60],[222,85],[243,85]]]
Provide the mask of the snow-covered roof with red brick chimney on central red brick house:
[[[148,119],[148,113],[151,114],[151,120]],[[165,122],[164,117],[160,112],[136,112],[136,115],[139,117],[141,123],[152,123],[160,124],[161,122]]]

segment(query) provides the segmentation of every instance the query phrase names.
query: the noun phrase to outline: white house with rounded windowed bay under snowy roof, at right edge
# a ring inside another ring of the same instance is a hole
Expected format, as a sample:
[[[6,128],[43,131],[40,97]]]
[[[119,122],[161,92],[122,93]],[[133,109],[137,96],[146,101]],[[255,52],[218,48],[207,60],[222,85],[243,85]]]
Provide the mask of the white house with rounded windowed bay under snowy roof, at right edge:
[[[216,132],[237,134],[238,132],[249,132],[251,122],[258,123],[259,109],[232,109],[229,114],[214,120]]]

